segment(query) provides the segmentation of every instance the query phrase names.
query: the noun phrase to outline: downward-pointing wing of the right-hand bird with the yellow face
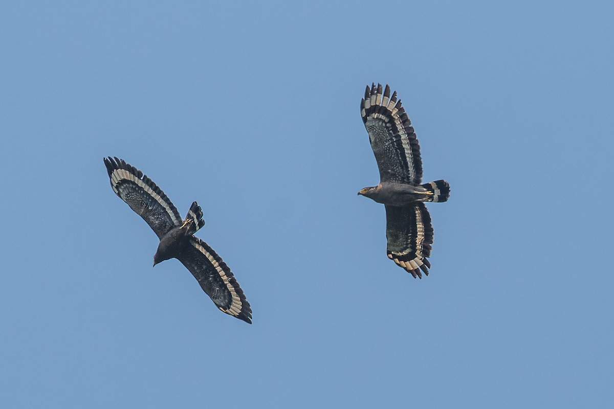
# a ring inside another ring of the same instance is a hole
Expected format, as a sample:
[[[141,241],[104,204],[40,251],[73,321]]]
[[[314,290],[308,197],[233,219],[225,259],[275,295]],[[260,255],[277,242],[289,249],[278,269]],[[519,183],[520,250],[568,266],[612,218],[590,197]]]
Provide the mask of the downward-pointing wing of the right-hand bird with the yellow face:
[[[433,226],[429,211],[422,202],[409,207],[386,205],[386,238],[388,257],[411,275],[429,275]]]

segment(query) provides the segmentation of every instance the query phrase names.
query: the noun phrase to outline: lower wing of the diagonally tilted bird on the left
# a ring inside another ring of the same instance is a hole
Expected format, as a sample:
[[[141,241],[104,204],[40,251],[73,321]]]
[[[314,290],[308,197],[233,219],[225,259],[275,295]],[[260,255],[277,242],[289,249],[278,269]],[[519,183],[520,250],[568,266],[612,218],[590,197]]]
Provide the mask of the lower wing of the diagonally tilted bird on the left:
[[[178,259],[198,280],[217,308],[248,324],[252,323],[252,308],[243,290],[226,263],[207,243],[198,237],[191,237],[187,250]]]

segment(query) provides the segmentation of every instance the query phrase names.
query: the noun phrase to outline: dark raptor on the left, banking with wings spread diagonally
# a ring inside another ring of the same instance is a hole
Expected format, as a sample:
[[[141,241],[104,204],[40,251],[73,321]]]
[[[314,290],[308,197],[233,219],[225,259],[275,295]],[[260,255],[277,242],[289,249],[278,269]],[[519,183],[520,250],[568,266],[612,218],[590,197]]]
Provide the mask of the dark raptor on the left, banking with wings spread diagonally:
[[[207,243],[194,236],[204,225],[200,206],[193,202],[182,220],[166,194],[141,170],[110,156],[104,158],[104,164],[115,194],[138,213],[160,239],[153,266],[171,258],[178,259],[222,312],[251,324],[252,309],[235,276]]]

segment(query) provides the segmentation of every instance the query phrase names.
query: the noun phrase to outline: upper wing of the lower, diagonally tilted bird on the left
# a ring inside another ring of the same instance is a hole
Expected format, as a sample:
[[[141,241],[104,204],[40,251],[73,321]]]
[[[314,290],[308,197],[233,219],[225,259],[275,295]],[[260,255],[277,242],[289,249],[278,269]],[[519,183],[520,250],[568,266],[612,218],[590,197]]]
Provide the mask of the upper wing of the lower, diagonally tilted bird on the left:
[[[110,156],[104,158],[104,164],[113,191],[149,224],[160,239],[173,227],[181,226],[177,208],[141,170]]]

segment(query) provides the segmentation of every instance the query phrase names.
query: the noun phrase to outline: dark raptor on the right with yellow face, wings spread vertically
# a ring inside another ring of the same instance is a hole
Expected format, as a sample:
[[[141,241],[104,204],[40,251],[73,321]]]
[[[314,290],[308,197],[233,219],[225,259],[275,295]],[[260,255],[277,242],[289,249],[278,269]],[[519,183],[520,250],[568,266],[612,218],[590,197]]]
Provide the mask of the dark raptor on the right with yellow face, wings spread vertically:
[[[445,180],[422,182],[420,145],[410,118],[390,87],[367,86],[360,102],[371,148],[379,167],[379,185],[358,194],[386,207],[387,254],[398,266],[422,278],[429,275],[433,226],[424,202],[445,202],[450,186]]]

